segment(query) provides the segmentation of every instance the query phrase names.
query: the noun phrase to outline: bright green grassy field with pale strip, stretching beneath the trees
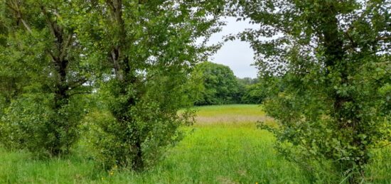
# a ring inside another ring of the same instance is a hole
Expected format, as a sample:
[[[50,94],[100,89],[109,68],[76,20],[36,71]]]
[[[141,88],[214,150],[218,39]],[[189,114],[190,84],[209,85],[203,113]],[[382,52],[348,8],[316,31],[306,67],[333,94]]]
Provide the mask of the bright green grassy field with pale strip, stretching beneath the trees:
[[[257,120],[272,122],[261,107],[197,109],[197,123],[189,129],[192,133],[144,173],[102,171],[82,146],[68,158],[49,161],[0,148],[0,183],[309,183],[298,166],[274,151],[272,134],[256,129]],[[391,183],[390,149],[376,154],[368,178]]]

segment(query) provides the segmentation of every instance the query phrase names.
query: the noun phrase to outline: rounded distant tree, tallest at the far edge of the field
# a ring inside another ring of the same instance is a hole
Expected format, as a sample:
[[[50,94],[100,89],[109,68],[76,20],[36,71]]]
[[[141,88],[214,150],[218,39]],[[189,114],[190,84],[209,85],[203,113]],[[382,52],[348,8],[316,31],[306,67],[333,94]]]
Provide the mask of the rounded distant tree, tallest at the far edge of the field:
[[[195,66],[191,80],[201,85],[196,92],[195,105],[240,102],[240,85],[230,67],[203,62]]]

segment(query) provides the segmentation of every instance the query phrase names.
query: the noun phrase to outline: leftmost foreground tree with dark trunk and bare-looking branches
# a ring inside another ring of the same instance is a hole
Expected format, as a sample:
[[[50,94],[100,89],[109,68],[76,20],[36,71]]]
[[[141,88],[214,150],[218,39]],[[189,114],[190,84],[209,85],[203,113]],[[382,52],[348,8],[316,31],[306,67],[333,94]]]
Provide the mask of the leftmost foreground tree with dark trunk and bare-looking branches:
[[[64,1],[0,4],[5,40],[1,68],[11,68],[2,70],[3,78],[14,81],[5,90],[9,107],[1,123],[1,131],[11,134],[3,131],[1,136],[18,148],[51,156],[68,153],[82,117],[77,94],[88,91],[70,6]]]

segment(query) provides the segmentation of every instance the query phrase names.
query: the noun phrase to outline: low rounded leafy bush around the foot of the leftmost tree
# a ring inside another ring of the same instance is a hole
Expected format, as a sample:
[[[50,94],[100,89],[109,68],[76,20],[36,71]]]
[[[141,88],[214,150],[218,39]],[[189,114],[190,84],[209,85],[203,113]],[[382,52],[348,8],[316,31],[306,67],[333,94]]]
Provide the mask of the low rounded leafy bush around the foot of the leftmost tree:
[[[83,101],[54,109],[54,94],[26,93],[13,100],[0,121],[0,142],[6,148],[26,148],[39,156],[68,153],[77,141]]]

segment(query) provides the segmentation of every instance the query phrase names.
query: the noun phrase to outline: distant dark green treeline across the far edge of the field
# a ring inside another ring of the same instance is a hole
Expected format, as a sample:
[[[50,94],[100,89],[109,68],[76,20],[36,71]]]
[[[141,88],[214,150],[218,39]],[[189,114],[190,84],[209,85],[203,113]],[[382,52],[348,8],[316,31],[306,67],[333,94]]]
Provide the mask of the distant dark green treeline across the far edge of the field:
[[[266,97],[257,78],[238,78],[225,65],[211,62],[195,66],[188,86],[195,105],[261,104]]]

